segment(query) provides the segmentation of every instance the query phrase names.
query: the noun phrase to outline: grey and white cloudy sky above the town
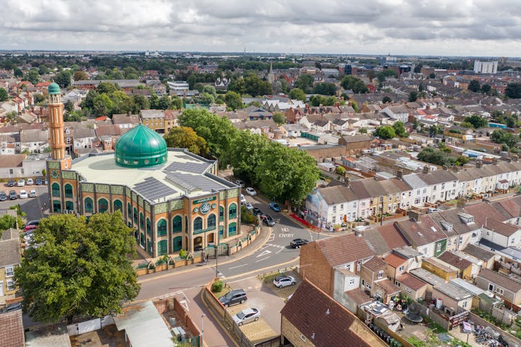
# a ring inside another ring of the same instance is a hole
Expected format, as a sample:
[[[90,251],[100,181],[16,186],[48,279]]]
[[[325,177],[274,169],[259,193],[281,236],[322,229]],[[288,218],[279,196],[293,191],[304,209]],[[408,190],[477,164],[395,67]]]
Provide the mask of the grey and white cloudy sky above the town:
[[[521,56],[519,0],[0,0],[0,50]]]

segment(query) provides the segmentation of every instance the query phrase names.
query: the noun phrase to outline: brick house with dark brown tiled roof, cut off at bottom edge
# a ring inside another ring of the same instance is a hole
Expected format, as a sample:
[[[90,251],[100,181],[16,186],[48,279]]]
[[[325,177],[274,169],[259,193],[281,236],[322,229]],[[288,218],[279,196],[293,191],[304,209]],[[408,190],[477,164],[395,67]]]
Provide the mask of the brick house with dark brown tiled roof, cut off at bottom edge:
[[[352,312],[306,279],[281,316],[284,346],[387,346]]]

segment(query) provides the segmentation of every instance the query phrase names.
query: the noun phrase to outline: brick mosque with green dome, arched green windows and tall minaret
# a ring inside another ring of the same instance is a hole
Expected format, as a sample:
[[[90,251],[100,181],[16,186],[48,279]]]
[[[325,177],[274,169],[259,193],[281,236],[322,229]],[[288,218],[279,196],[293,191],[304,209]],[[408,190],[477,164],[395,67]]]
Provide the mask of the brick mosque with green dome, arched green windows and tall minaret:
[[[215,160],[169,149],[142,124],[117,140],[115,152],[71,160],[59,86],[50,84],[48,93],[52,214],[88,217],[119,209],[151,257],[215,247],[240,234],[240,188],[217,176]]]

